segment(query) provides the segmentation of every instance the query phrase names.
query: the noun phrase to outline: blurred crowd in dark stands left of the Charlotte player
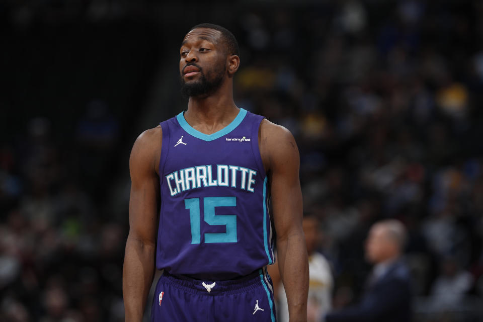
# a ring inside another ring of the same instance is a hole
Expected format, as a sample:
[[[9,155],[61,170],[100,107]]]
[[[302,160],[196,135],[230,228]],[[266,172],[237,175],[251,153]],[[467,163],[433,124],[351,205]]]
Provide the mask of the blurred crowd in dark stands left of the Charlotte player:
[[[0,151],[2,321],[122,320],[126,225],[94,195],[116,123],[99,104],[78,122],[77,153],[45,118]]]

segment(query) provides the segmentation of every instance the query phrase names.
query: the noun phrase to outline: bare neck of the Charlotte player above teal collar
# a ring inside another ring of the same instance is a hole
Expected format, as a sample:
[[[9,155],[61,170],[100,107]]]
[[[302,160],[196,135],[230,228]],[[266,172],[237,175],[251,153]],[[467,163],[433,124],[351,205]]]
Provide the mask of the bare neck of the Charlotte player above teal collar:
[[[238,114],[231,82],[224,82],[208,96],[190,97],[186,121],[198,131],[211,134],[228,125]]]

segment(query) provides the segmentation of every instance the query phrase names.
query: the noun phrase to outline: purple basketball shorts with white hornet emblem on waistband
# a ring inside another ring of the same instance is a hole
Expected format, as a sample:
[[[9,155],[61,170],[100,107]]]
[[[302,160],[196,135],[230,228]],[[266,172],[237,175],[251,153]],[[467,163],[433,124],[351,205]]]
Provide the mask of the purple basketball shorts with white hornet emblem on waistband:
[[[266,267],[226,280],[197,280],[164,273],[157,281],[151,321],[275,322],[272,281]]]

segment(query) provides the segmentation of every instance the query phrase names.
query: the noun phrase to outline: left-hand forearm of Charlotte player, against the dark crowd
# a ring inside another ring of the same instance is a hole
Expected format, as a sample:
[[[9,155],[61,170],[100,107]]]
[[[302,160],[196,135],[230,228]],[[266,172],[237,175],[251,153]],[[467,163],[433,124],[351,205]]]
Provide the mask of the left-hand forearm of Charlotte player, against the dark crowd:
[[[128,236],[122,278],[125,320],[140,322],[154,274],[154,245]]]

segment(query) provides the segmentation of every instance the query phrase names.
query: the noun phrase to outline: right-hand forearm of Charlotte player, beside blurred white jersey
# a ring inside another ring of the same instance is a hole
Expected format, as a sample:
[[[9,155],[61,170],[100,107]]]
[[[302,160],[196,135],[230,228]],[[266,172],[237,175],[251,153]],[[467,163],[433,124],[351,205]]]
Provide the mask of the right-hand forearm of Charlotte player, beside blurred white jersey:
[[[303,233],[277,238],[280,276],[287,294],[290,321],[307,320],[308,261]]]

